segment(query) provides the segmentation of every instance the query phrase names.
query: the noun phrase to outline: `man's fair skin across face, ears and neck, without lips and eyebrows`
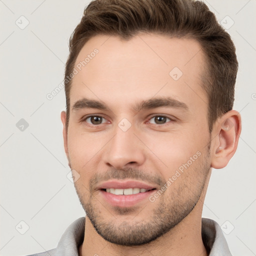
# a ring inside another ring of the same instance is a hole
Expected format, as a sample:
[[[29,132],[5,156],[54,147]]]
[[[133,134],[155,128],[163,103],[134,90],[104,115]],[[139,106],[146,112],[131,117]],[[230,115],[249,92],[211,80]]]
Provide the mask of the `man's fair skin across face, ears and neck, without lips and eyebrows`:
[[[74,185],[87,213],[79,255],[207,255],[201,239],[203,200],[211,167],[224,167],[236,150],[239,113],[225,113],[209,133],[207,95],[200,84],[205,59],[193,39],[139,33],[124,41],[97,35],[82,47],[75,65],[95,48],[98,53],[73,77],[68,127],[61,112],[65,152],[74,175],[80,175]],[[174,67],[182,72],[177,80],[169,75]],[[73,110],[84,97],[107,108]],[[133,109],[158,97],[187,108]],[[88,115],[102,118],[94,122]],[[167,118],[159,119],[162,115]],[[123,118],[124,126],[131,125],[126,131],[118,126]],[[200,156],[194,159],[196,152]],[[114,207],[97,190],[100,182],[114,179],[142,180],[161,189],[190,157],[192,163],[153,202],[146,198]]]

